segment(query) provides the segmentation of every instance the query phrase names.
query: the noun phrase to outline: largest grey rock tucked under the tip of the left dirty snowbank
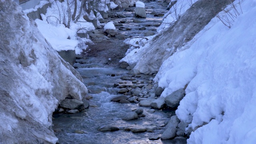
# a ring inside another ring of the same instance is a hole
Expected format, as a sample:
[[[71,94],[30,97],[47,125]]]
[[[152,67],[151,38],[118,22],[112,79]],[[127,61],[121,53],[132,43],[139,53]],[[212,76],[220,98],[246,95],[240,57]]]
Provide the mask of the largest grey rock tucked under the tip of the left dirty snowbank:
[[[77,99],[68,99],[62,100],[60,102],[60,107],[68,109],[77,109],[79,111],[84,110],[84,103]]]

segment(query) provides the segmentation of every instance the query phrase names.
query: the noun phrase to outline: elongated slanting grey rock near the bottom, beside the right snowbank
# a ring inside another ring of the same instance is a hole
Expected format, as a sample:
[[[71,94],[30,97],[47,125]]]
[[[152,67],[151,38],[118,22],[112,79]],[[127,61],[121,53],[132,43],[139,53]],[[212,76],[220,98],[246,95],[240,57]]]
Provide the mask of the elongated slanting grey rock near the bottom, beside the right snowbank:
[[[176,135],[176,128],[179,124],[179,119],[177,116],[172,116],[168,124],[166,125],[166,130],[164,130],[161,140],[168,140]]]

